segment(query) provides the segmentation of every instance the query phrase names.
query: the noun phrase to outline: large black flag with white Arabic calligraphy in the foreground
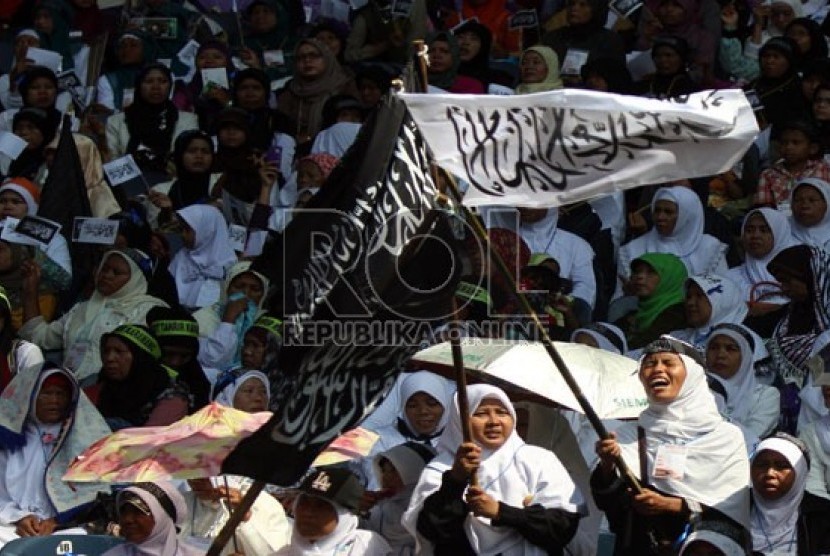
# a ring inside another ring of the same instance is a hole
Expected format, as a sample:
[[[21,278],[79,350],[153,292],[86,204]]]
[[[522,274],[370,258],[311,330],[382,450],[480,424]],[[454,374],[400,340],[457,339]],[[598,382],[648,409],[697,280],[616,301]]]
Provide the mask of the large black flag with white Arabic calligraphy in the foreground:
[[[436,194],[406,107],[385,100],[281,245],[255,265],[282,285],[290,318],[271,377],[274,417],[223,472],[295,483],[382,400],[421,346],[417,331],[446,318],[460,265]]]

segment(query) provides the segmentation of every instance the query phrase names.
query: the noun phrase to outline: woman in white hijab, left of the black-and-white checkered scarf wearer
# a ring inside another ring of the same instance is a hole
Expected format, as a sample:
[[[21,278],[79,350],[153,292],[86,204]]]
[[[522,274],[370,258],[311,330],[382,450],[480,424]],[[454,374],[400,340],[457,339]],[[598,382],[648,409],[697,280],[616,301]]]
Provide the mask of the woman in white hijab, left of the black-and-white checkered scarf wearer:
[[[789,219],[776,209],[755,209],[744,218],[741,227],[744,264],[729,269],[726,276],[738,284],[743,300],[749,304],[747,324],[764,337],[772,333],[772,328],[780,319],[775,313],[790,302],[781,294],[781,286],[767,270],[767,264],[778,253],[796,243]],[[763,299],[756,301],[759,296]],[[762,329],[759,324],[765,315],[765,320],[769,322]]]

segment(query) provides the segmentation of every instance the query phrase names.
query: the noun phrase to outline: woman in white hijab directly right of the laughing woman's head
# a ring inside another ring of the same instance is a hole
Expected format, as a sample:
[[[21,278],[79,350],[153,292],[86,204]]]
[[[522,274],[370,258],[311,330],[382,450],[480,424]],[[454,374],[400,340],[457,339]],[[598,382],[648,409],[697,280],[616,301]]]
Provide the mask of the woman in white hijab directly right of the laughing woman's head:
[[[726,390],[725,417],[738,425],[752,451],[758,439],[778,424],[780,394],[755,378],[755,363],[769,356],[751,330],[740,324],[719,324],[705,344],[706,369]]]

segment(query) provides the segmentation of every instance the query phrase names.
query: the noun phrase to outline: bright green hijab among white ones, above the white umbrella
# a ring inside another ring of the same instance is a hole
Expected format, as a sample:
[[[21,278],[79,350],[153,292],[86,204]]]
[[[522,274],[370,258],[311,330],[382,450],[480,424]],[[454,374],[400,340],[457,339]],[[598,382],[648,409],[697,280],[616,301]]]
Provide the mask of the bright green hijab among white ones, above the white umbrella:
[[[669,253],[644,253],[631,262],[632,269],[637,261],[649,265],[660,277],[660,283],[654,292],[637,303],[634,323],[637,330],[645,330],[657,320],[660,313],[672,305],[683,302],[686,297],[685,284],[688,273],[683,261]]]

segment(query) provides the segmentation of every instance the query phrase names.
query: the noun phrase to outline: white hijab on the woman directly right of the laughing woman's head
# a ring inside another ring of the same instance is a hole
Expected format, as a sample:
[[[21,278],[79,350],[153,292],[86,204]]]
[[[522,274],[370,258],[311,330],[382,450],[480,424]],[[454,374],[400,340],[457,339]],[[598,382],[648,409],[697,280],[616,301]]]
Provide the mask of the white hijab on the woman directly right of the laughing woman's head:
[[[750,417],[755,405],[753,392],[758,387],[755,378],[755,363],[758,361],[756,338],[752,332],[741,324],[716,326],[706,340],[704,349],[715,336],[726,336],[738,344],[741,349],[741,368],[732,378],[717,377],[726,389],[726,415],[731,421],[744,423]]]

